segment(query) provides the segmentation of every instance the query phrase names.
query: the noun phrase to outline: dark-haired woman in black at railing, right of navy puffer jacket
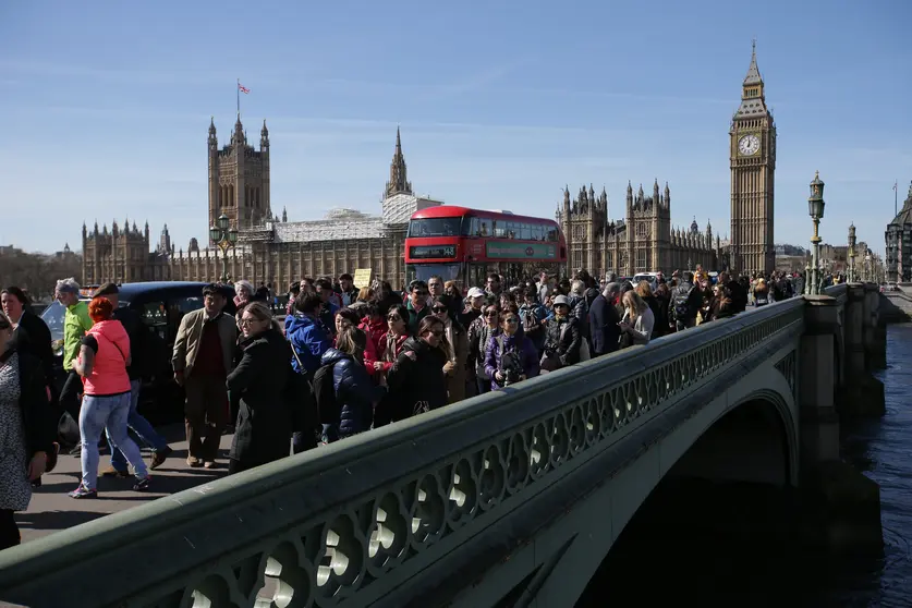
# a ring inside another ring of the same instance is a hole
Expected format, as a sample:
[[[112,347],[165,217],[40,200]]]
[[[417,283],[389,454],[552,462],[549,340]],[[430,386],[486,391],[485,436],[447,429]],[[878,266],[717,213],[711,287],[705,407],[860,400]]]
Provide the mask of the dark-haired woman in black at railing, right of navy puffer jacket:
[[[415,337],[405,340],[387,376],[390,403],[396,404],[393,421],[447,404],[447,355],[440,348],[446,339],[443,321],[431,315],[422,319]]]

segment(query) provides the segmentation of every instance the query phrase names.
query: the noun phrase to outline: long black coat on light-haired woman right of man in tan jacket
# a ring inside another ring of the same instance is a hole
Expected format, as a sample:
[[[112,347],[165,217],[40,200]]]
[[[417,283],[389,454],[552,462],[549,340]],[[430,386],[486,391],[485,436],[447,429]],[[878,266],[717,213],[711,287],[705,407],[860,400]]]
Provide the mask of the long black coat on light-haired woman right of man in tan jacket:
[[[228,375],[228,390],[241,397],[229,458],[244,469],[289,454],[292,411],[285,385],[291,349],[281,331],[269,328],[243,343],[241,363]]]

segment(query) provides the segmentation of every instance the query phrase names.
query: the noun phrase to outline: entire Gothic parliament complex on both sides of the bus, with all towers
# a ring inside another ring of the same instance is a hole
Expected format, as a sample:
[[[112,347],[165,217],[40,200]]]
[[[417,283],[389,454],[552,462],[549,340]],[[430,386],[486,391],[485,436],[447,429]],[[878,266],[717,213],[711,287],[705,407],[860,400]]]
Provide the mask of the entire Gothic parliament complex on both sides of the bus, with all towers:
[[[634,194],[628,183],[623,219],[612,220],[608,194],[589,186],[571,197],[564,189],[556,219],[567,239],[568,266],[594,275],[693,269],[731,269],[769,273],[775,269],[773,231],[776,126],[766,106],[764,82],[757,69],[756,49],[741,86],[741,102],[729,129],[731,173],[731,232],[723,242],[707,221],[700,229],[694,218],[689,229],[671,226],[671,192],[660,191],[658,180],[650,195],[641,185]],[[228,142],[219,146],[215,120],[209,123],[208,222],[226,215],[239,231],[238,245],[229,250],[228,275],[283,289],[302,277],[339,276],[372,268],[374,276],[400,287],[405,281],[405,232],[412,214],[441,203],[415,196],[408,180],[399,130],[390,163],[389,181],[381,196],[381,214],[333,209],[324,219],[289,221],[281,218],[270,197],[269,131],[264,121],[259,149],[248,141],[240,115]],[[203,227],[200,227],[203,228]],[[208,228],[208,227],[206,227]],[[208,230],[207,230],[208,232]],[[177,250],[166,226],[151,250],[149,227],[139,230],[124,221],[110,231],[96,223],[83,224],[83,282],[154,280],[211,281],[222,275],[222,259],[215,243],[200,247],[191,239]]]

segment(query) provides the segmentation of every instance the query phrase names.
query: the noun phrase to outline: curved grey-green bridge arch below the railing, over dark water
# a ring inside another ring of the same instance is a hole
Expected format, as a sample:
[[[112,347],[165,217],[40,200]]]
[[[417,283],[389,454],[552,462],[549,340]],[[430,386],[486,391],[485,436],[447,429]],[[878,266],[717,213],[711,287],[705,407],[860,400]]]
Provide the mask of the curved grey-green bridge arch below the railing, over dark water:
[[[797,408],[797,344],[770,349],[770,356],[761,365],[722,378],[714,386],[697,390],[685,402],[674,405],[673,412],[666,415],[674,418],[672,427],[667,428],[661,437],[643,437],[631,441],[641,449],[632,460],[623,462],[627,454],[616,461],[616,469],[605,471],[606,481],[599,487],[582,498],[572,510],[547,530],[543,530],[530,545],[511,556],[501,569],[510,570],[522,563],[523,552],[536,556],[544,563],[534,575],[515,579],[504,575],[486,576],[481,584],[466,589],[452,606],[470,608],[483,606],[484,598],[497,595],[488,584],[503,585],[510,579],[516,584],[515,592],[531,600],[530,606],[572,605],[583,593],[603,560],[607,557],[615,542],[623,532],[636,511],[656,489],[658,484],[676,469],[682,459],[686,460],[690,450],[698,447],[701,439],[710,438],[714,428],[730,421],[731,415],[751,412],[759,414],[768,423],[766,431],[757,440],[770,441],[769,450],[757,454],[759,459],[776,454],[779,459],[768,470],[744,470],[744,481],[773,483],[777,485],[798,484],[799,474],[799,416]],[[750,417],[749,417],[750,418]],[[754,418],[755,419],[755,418]],[[741,421],[741,422],[750,422]],[[743,427],[742,427],[743,429]],[[740,439],[743,439],[742,436]],[[756,461],[744,462],[758,446],[757,440],[741,446],[738,455],[741,463],[756,466]],[[645,446],[644,446],[645,445]],[[738,447],[735,439],[729,448]],[[713,451],[712,447],[708,451]],[[725,464],[722,460],[717,462]],[[698,467],[706,465],[705,459],[692,463]],[[709,462],[712,464],[712,461]],[[686,471],[684,471],[686,472]],[[723,466],[706,472],[717,478],[732,478],[737,470]],[[542,560],[543,555],[550,557]],[[519,597],[519,596],[518,596]],[[534,599],[533,599],[534,598]]]

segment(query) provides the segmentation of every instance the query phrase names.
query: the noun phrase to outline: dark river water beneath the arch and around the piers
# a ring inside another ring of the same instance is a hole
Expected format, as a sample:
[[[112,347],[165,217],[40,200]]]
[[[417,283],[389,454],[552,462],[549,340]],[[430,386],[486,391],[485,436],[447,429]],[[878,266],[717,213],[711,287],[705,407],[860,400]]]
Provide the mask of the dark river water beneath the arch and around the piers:
[[[912,324],[888,327],[887,362],[886,415],[842,428],[843,459],[880,486],[883,556],[812,548],[793,493],[664,483],[577,607],[912,607]]]

